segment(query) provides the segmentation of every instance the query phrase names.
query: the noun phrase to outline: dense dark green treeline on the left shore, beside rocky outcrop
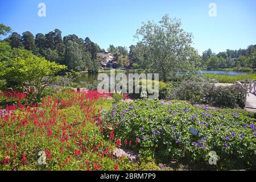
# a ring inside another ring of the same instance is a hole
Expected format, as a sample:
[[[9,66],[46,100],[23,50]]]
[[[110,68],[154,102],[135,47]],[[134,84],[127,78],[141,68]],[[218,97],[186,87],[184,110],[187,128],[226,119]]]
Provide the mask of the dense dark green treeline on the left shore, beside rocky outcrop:
[[[61,31],[55,29],[48,34],[36,34],[30,31],[19,35],[13,32],[4,40],[11,48],[24,48],[32,51],[36,56],[46,57],[49,61],[67,65],[75,71],[98,71],[97,53],[104,51],[89,38],[85,40],[77,35],[68,35],[62,38]]]

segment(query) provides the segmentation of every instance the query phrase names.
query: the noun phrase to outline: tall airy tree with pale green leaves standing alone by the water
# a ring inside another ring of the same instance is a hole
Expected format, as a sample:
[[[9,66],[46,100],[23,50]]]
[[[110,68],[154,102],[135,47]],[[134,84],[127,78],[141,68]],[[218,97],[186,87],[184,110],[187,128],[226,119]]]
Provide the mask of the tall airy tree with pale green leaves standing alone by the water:
[[[135,38],[139,40],[136,48],[139,59],[144,59],[147,68],[159,73],[163,81],[187,76],[195,69],[189,62],[192,34],[183,31],[180,20],[164,15],[159,24],[143,23]]]

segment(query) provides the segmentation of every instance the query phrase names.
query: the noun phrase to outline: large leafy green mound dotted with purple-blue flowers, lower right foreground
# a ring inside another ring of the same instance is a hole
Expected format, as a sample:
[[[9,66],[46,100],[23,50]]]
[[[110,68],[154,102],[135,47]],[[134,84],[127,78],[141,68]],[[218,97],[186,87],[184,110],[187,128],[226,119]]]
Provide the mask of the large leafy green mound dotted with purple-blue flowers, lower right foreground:
[[[139,100],[113,106],[104,122],[106,136],[132,141],[145,157],[206,165],[216,151],[220,168],[256,168],[256,122],[239,113]],[[189,133],[192,127],[197,135]]]

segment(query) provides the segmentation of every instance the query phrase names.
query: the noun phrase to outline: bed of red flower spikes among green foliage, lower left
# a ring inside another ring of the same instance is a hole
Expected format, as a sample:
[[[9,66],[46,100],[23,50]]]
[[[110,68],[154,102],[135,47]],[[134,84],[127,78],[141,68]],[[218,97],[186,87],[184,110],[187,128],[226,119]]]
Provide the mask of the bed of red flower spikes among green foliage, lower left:
[[[42,104],[7,106],[0,118],[0,170],[118,170],[94,104],[102,95],[64,92]],[[11,112],[9,112],[11,110]],[[46,154],[39,164],[38,154]]]

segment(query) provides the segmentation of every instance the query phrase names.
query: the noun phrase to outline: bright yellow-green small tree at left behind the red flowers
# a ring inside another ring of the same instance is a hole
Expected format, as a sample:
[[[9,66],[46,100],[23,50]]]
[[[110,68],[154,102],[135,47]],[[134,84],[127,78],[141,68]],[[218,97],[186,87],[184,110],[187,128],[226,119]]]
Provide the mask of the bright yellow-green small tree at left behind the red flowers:
[[[38,100],[46,86],[56,81],[55,74],[66,67],[36,57],[29,51],[16,52],[18,55],[13,59],[0,63],[0,78],[6,80],[9,87],[26,90],[33,100]],[[37,91],[30,91],[29,86],[35,86]]]

